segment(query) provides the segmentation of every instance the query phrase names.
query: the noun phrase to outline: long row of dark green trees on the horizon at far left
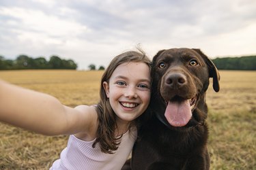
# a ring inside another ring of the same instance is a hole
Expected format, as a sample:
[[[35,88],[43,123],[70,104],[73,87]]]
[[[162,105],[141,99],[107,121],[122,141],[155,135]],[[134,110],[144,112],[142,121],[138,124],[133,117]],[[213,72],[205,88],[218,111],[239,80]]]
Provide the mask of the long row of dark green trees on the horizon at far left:
[[[72,60],[64,60],[59,56],[51,56],[47,61],[44,57],[31,58],[19,55],[15,60],[5,59],[0,56],[0,70],[6,69],[76,69],[77,65]]]

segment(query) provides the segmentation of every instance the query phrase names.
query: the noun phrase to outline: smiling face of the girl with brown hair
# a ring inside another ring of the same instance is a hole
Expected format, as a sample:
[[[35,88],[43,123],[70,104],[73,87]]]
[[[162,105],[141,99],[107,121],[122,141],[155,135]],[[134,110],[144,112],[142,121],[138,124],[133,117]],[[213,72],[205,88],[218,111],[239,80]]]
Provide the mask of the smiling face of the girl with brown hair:
[[[145,63],[123,63],[103,86],[117,121],[128,123],[139,117],[150,103],[150,68]]]

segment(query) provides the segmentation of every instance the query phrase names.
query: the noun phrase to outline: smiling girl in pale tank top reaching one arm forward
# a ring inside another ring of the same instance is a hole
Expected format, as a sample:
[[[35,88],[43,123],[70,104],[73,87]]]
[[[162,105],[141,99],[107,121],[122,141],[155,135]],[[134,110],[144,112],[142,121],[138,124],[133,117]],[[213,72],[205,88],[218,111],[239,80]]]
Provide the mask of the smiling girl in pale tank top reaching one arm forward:
[[[137,138],[138,117],[150,103],[150,71],[145,53],[124,52],[102,75],[98,105],[75,108],[0,81],[0,120],[44,135],[69,134],[51,169],[119,170]]]

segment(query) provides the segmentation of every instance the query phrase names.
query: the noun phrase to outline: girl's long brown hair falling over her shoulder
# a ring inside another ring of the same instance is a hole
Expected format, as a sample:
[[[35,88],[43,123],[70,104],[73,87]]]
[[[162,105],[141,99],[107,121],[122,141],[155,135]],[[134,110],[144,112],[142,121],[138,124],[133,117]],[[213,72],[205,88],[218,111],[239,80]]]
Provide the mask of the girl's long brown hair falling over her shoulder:
[[[145,55],[145,52],[138,49],[139,52],[136,51],[128,51],[118,56],[115,56],[109,67],[106,68],[102,75],[101,84],[100,84],[100,102],[96,107],[96,111],[98,114],[99,126],[97,130],[97,137],[96,141],[94,141],[93,148],[96,146],[96,143],[99,143],[100,150],[104,153],[113,154],[113,151],[117,150],[120,139],[122,137],[115,136],[115,129],[117,129],[116,124],[116,115],[113,112],[113,109],[109,103],[108,97],[106,97],[106,92],[104,91],[103,82],[108,82],[111,78],[111,75],[115,68],[122,63],[129,63],[129,62],[140,62],[145,63],[151,69],[151,61]],[[131,126],[137,126],[137,120],[132,121]]]

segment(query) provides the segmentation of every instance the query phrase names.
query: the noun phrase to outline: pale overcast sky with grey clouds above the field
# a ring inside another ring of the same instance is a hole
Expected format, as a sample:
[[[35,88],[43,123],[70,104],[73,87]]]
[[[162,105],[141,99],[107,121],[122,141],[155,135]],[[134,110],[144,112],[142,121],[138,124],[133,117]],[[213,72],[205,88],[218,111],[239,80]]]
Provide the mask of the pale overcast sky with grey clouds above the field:
[[[256,54],[255,0],[1,0],[0,55],[53,54],[107,66],[137,44],[200,48],[210,58]]]

